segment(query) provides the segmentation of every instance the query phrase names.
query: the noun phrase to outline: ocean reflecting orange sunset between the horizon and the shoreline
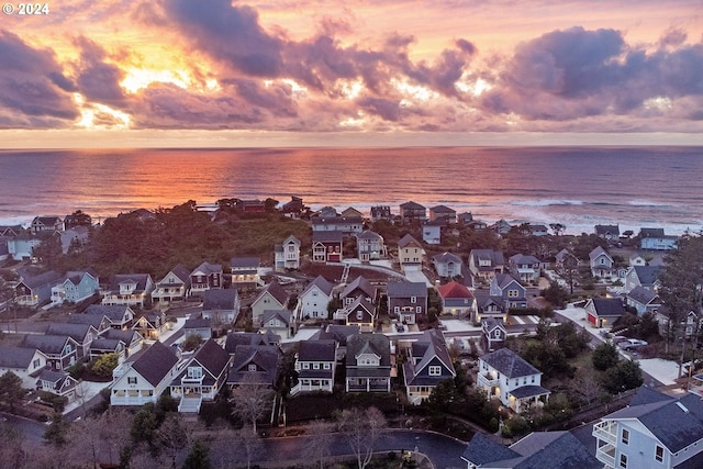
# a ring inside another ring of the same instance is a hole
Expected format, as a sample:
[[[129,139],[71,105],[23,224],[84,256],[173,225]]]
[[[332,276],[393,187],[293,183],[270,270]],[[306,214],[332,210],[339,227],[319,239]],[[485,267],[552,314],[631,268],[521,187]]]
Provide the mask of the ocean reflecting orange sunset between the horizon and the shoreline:
[[[703,227],[703,147],[0,150],[0,224],[188,200],[302,197],[313,209],[414,200],[489,222]]]

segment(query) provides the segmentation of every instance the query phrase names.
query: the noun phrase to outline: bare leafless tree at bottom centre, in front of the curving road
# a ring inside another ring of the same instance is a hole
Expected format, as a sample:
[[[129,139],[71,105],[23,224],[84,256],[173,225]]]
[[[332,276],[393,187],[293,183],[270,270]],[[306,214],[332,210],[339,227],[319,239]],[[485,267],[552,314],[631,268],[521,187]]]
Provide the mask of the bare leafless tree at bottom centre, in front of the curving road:
[[[346,435],[359,469],[366,468],[373,456],[373,447],[383,435],[386,417],[376,407],[345,410],[339,416],[339,429]]]

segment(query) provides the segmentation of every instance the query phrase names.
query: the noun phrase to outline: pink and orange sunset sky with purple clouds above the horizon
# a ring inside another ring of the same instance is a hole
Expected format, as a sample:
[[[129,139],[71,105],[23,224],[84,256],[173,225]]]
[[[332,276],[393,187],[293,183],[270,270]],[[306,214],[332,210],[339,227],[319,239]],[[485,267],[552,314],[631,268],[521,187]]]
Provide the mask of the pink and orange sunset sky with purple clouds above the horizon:
[[[9,4],[0,148],[703,145],[700,0]]]

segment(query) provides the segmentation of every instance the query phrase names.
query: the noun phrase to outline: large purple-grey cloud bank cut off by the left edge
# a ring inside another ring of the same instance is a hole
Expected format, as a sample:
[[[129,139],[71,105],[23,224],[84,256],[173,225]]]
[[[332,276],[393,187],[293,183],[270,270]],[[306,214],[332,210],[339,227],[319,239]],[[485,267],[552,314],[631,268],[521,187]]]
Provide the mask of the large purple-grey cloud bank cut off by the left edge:
[[[78,116],[75,89],[49,49],[36,49],[0,31],[0,125],[62,126]]]

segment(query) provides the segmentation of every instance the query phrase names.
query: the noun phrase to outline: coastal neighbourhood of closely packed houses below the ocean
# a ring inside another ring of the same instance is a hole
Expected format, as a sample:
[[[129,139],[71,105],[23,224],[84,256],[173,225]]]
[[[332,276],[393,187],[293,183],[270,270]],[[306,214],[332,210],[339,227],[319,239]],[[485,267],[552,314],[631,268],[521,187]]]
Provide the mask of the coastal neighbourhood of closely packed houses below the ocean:
[[[68,415],[86,405],[82,389],[92,383],[110,407],[137,411],[169,399],[182,418],[198,421],[224,406],[233,409],[227,418],[238,415],[239,425],[258,424],[270,436],[332,418],[343,402],[367,395],[406,429],[459,432],[427,425],[436,412],[464,422],[457,467],[517,468],[565,450],[579,455],[578,467],[703,460],[695,446],[703,438],[695,398],[703,368],[694,365],[701,300],[680,302],[688,297],[672,284],[688,279],[677,253],[698,249],[700,237],[647,227],[625,239],[618,226],[603,225],[578,237],[550,235],[539,223],[480,223],[412,201],[397,215],[380,204],[368,216],[352,206],[312,211],[301,198],[269,213],[255,206],[175,208],[204,227],[248,213],[239,228],[269,223],[270,243],[221,256],[183,253],[153,270],[118,263],[62,269],[81,259],[49,248],[70,217],[0,227],[8,247],[35,239],[0,258],[0,373],[29,390],[27,415],[52,418],[46,407],[55,399]],[[121,223],[168,215],[144,211]],[[91,227],[85,252],[104,243],[110,226]],[[614,358],[599,368],[596,353]],[[643,377],[644,360],[676,361],[676,354],[680,367],[689,362],[688,377]],[[635,378],[618,381],[627,366]],[[587,375],[589,384],[579,381]],[[244,417],[244,393],[265,412]],[[606,402],[618,409],[593,414],[591,433],[554,431]],[[685,421],[685,438],[662,429],[673,414]]]

